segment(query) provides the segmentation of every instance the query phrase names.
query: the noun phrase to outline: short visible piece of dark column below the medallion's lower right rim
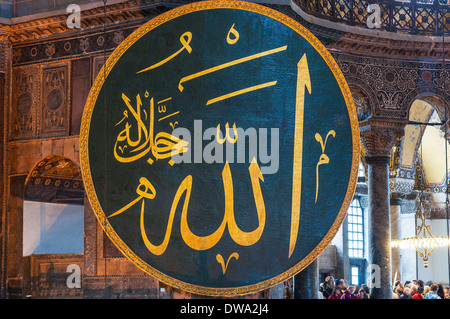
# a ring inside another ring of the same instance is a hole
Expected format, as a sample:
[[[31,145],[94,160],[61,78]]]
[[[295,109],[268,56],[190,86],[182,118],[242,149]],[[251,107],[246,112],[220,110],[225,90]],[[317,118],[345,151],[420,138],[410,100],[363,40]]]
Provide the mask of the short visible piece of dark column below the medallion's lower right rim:
[[[293,290],[294,299],[319,298],[319,263],[317,259],[294,276]]]

